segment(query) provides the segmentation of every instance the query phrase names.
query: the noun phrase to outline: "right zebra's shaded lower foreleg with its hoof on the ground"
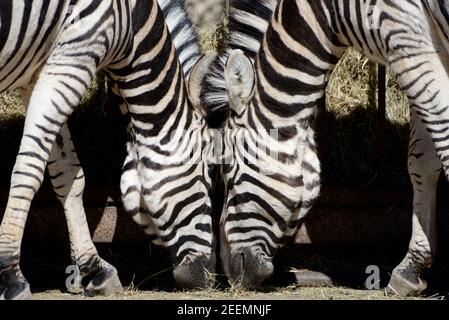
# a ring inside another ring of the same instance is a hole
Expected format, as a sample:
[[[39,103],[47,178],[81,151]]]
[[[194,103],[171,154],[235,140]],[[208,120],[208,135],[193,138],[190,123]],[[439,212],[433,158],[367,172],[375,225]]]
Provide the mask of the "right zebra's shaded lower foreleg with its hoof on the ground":
[[[436,188],[441,161],[416,111],[411,111],[409,174],[413,184],[413,234],[408,253],[392,274],[387,292],[420,295],[427,284],[420,273],[433,263],[437,248]]]

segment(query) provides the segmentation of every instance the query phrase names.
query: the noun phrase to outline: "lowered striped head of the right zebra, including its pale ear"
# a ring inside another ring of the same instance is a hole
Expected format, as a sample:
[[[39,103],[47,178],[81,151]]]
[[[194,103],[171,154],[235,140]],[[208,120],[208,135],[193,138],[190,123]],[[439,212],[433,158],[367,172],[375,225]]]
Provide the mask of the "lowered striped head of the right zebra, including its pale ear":
[[[303,206],[302,162],[306,138],[299,125],[273,127],[260,112],[260,85],[252,61],[240,50],[225,67],[230,117],[225,127],[221,259],[231,281],[252,288],[273,273],[273,257],[292,237]],[[305,134],[307,135],[307,134]]]

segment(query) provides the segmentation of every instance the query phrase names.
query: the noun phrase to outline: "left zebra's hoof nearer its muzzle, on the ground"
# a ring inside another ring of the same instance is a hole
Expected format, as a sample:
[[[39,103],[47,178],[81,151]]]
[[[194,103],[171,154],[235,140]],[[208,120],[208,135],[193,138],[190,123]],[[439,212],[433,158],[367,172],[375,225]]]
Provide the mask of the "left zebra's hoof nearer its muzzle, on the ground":
[[[111,296],[120,293],[123,293],[123,286],[118,277],[117,269],[108,264],[98,271],[89,282],[85,295]]]

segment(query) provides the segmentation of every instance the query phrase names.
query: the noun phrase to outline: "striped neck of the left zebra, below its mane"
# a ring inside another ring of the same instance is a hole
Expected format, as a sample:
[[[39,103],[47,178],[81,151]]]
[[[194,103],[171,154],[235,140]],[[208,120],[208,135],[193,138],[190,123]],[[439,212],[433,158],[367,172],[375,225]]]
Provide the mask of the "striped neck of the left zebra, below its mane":
[[[133,44],[129,64],[135,66],[137,72],[131,75],[131,80],[120,84],[125,88],[121,94],[126,100],[136,139],[144,141],[157,137],[165,139],[161,141],[164,143],[174,130],[189,128],[199,120],[187,99],[178,53],[157,2],[137,2],[132,14],[134,33],[143,40]],[[115,80],[120,82],[119,77]]]

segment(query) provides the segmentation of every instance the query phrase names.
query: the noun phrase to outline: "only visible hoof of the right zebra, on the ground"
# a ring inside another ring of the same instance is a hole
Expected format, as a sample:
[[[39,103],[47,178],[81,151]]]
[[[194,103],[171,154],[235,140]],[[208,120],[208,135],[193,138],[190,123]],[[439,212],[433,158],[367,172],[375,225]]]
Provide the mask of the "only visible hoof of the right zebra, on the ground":
[[[393,271],[386,290],[387,295],[401,297],[421,296],[427,288],[427,282],[418,276],[406,276],[399,271]]]

